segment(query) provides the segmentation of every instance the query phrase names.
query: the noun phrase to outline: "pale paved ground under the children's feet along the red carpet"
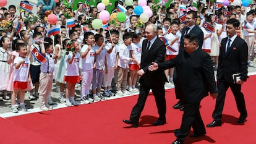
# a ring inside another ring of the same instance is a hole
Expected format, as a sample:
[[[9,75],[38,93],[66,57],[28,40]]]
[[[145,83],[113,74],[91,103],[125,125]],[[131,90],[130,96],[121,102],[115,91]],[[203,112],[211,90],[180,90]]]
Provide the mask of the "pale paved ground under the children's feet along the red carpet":
[[[256,67],[249,67],[249,75],[256,75]],[[168,83],[166,83],[166,88],[174,88],[173,85],[170,85]],[[54,109],[58,109],[58,108],[65,108],[66,104],[65,103],[60,103],[59,101],[59,92],[56,91],[56,84],[53,83],[53,90],[51,91],[51,96],[52,96],[52,100],[54,101],[54,105],[53,108]],[[75,99],[77,101],[80,100],[80,87],[76,87],[75,88],[77,96],[75,97]],[[1,95],[2,93],[0,93]],[[136,95],[137,93],[134,93],[133,95]],[[26,107],[28,108],[27,112],[20,112],[18,114],[13,114],[12,112],[10,112],[11,109],[11,101],[10,100],[4,100],[4,101],[0,101],[0,117],[11,117],[11,116],[19,116],[21,114],[28,114],[28,113],[32,113],[32,112],[38,112],[40,111],[39,107],[39,100],[29,100],[28,99],[29,93],[26,93],[25,95],[25,104]],[[112,100],[115,98],[123,98],[120,96],[113,96],[111,98],[108,98],[108,100]],[[96,102],[96,103],[100,103],[100,102]]]

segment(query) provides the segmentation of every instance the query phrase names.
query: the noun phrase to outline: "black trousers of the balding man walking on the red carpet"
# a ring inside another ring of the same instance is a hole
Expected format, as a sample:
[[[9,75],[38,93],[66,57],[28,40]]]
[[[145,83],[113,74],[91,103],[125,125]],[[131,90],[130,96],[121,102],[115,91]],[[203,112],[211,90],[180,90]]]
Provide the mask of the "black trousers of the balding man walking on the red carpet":
[[[166,119],[166,100],[164,85],[147,86],[143,83],[140,83],[139,98],[134,108],[132,108],[132,112],[130,113],[130,120],[135,124],[139,124],[140,114],[143,111],[150,89],[152,90],[152,93],[155,97],[159,120]]]

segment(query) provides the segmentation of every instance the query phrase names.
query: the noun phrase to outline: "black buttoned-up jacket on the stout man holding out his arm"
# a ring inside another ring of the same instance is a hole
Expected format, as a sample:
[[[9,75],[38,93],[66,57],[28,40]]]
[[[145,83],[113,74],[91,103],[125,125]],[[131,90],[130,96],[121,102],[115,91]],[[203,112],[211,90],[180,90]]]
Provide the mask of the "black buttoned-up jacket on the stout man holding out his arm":
[[[177,90],[185,104],[199,103],[210,93],[217,93],[211,57],[202,49],[192,54],[184,51],[174,59],[158,64],[159,69],[176,67]]]

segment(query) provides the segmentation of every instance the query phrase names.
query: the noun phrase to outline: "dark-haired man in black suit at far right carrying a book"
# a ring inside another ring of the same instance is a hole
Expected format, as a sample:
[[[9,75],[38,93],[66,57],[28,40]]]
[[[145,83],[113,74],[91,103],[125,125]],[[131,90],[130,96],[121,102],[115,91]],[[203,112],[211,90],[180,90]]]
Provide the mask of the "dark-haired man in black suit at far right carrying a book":
[[[207,127],[221,126],[221,115],[224,107],[226,91],[231,88],[236,106],[240,112],[238,123],[244,123],[247,117],[244,94],[241,92],[242,83],[247,80],[247,55],[248,46],[246,42],[237,36],[236,30],[240,23],[236,19],[227,22],[226,33],[228,37],[223,38],[220,47],[219,64],[217,70],[217,85],[219,96],[216,99],[213,111],[213,122]],[[239,74],[240,78],[233,78],[234,74]]]

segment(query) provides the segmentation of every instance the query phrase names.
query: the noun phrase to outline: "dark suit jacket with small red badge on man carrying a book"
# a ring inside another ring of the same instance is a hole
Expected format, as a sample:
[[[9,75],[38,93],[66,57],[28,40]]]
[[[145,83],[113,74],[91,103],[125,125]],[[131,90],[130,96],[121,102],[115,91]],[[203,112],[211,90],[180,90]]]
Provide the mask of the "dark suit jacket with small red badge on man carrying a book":
[[[226,43],[228,37],[223,38],[220,47],[219,64],[217,71],[218,80],[224,79],[226,82],[233,83],[233,74],[241,73],[241,80],[247,80],[247,43],[236,36],[226,54]]]

